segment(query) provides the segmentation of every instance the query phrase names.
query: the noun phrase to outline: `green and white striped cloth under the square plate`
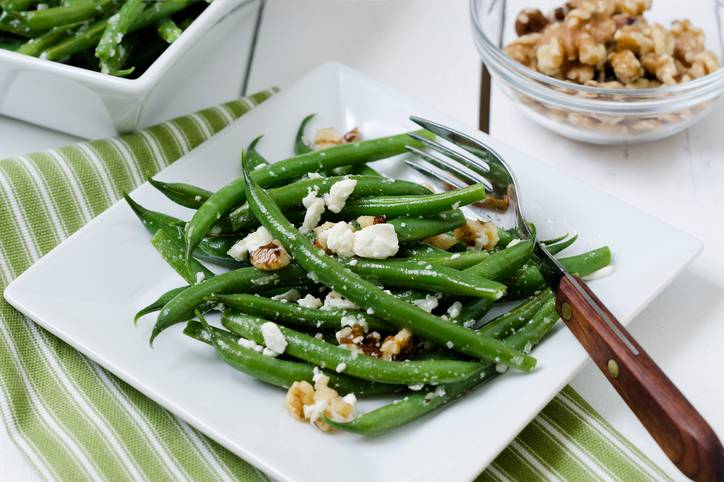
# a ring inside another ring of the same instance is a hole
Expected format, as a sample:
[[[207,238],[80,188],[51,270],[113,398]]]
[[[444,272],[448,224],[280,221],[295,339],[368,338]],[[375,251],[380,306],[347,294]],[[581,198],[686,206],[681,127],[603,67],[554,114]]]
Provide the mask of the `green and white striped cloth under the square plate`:
[[[116,139],[0,161],[0,289],[273,90]],[[45,479],[267,480],[0,300],[0,413]],[[481,480],[666,476],[566,388]]]

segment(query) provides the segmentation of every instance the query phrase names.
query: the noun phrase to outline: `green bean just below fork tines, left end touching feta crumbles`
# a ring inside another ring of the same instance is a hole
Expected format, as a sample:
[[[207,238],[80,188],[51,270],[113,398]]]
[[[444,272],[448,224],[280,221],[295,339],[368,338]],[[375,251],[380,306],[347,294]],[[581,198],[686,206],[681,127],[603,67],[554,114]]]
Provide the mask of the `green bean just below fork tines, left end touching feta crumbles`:
[[[421,196],[379,196],[351,199],[345,203],[340,214],[347,217],[384,214],[390,218],[430,216],[483,199],[485,199],[485,188],[482,184],[476,184],[462,189]]]

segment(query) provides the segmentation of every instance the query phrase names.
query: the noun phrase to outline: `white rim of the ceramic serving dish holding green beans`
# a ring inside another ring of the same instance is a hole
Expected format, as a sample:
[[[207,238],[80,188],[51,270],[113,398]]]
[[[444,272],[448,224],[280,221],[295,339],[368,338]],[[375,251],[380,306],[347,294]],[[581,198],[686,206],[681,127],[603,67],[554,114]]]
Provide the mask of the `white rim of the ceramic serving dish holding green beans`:
[[[227,8],[229,2],[210,2],[201,14],[184,30],[183,34],[176,39],[158,58],[146,69],[143,74],[135,79],[115,77],[102,74],[94,70],[84,69],[73,65],[64,64],[30,55],[19,54],[10,50],[0,49],[0,62],[11,63],[22,69],[31,69],[47,73],[55,73],[65,77],[93,84],[98,87],[112,88],[131,94],[138,94],[148,90],[155,85],[163,74],[178,60],[183,52],[192,46],[199,37],[208,32],[211,27],[221,22],[225,17],[254,2],[262,0],[230,0],[238,2],[231,9]]]

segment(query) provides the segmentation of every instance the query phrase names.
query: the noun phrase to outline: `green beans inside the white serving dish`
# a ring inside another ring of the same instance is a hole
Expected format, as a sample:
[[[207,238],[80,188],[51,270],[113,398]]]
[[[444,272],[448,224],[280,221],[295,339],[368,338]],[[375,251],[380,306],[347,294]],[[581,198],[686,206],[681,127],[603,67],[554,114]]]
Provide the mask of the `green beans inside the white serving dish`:
[[[2,0],[0,48],[135,78],[207,5],[204,0]]]

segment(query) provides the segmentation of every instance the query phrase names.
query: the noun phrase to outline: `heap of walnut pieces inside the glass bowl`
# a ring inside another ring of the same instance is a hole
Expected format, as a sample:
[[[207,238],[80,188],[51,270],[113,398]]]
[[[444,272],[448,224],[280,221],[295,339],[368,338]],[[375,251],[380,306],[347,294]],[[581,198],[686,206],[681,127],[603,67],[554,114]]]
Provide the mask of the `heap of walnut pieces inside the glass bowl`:
[[[557,79],[609,88],[680,84],[720,68],[717,56],[706,50],[704,32],[689,20],[672,22],[670,29],[649,23],[643,14],[651,3],[569,0],[549,19],[526,9],[516,22],[521,36],[504,51]]]

